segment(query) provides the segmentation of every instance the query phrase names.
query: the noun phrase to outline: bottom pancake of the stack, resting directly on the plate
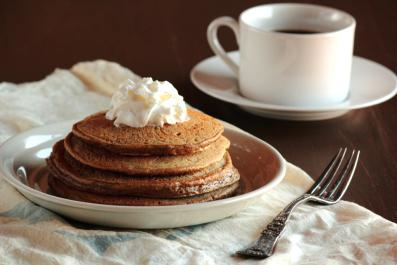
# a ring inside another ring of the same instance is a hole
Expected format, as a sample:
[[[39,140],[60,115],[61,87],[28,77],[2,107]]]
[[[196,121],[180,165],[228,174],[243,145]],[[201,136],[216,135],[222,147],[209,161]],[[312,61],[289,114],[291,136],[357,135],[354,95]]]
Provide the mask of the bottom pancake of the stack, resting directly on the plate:
[[[237,191],[238,182],[229,186],[217,189],[212,192],[204,193],[201,195],[184,197],[184,198],[173,198],[173,199],[162,199],[162,198],[145,198],[145,197],[133,197],[133,196],[111,196],[111,195],[98,195],[86,191],[79,191],[73,189],[54,178],[52,175],[48,178],[51,189],[59,196],[91,203],[110,204],[110,205],[128,205],[128,206],[163,206],[163,205],[178,205],[178,204],[190,204],[207,202],[217,199],[222,199],[231,196]]]

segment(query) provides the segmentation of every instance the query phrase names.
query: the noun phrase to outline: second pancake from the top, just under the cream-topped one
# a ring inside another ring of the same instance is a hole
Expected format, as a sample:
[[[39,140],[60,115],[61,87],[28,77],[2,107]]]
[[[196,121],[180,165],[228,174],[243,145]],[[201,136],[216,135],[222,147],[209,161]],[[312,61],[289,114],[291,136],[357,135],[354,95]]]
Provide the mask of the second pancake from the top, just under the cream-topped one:
[[[90,145],[69,134],[67,152],[87,166],[131,175],[177,175],[195,172],[221,160],[230,142],[221,136],[199,153],[181,156],[124,156]]]

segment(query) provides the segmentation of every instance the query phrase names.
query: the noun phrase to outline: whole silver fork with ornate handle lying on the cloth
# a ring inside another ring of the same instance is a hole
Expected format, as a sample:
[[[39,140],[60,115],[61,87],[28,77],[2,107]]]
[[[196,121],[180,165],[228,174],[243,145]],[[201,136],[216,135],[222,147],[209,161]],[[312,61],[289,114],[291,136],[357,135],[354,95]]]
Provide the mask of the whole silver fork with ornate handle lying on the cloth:
[[[313,186],[305,194],[288,204],[262,231],[254,245],[238,251],[237,254],[260,259],[270,257],[285,229],[289,216],[298,205],[308,201],[324,205],[340,201],[349,187],[360,156],[360,151],[353,150],[343,170],[339,172],[346,151],[347,148],[340,148]]]

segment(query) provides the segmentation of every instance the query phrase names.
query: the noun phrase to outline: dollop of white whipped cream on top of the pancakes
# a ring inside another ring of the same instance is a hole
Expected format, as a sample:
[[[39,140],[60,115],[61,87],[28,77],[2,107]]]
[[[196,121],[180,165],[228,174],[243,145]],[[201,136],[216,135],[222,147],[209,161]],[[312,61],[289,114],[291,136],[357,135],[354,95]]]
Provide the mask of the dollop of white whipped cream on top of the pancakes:
[[[168,81],[150,77],[128,80],[113,94],[110,104],[106,118],[114,120],[117,127],[163,126],[189,120],[178,90]]]

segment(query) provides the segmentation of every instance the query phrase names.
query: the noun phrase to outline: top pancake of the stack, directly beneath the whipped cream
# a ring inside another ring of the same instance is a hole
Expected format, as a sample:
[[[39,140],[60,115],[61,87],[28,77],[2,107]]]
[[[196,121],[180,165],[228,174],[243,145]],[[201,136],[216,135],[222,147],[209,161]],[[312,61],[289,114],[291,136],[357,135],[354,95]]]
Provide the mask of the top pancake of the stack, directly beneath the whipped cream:
[[[116,127],[105,113],[88,116],[73,125],[73,134],[87,143],[125,155],[186,155],[204,150],[223,133],[216,119],[188,109],[189,120],[163,127]]]

